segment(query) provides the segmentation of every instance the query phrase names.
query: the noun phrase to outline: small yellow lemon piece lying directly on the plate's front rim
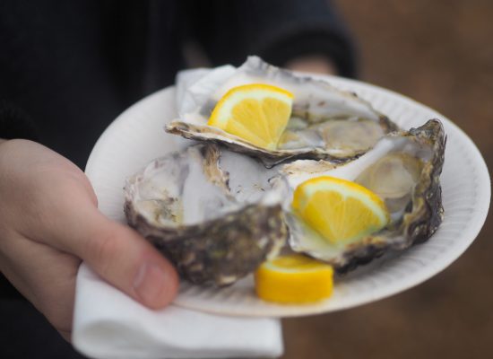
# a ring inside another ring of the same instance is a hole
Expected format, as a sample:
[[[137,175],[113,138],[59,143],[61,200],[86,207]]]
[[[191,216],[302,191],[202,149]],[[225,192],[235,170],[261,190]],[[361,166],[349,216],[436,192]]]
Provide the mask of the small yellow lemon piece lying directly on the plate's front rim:
[[[256,270],[255,292],[269,302],[317,302],[333,292],[333,267],[300,254],[274,258]]]

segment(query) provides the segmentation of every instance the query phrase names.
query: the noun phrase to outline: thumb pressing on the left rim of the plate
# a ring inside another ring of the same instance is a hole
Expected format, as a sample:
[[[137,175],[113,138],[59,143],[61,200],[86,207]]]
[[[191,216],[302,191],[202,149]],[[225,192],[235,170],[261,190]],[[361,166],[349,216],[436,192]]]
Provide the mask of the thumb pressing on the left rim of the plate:
[[[95,206],[79,207],[79,211],[76,223],[69,227],[69,251],[111,285],[151,309],[160,309],[173,300],[177,272],[150,242],[109,220]]]

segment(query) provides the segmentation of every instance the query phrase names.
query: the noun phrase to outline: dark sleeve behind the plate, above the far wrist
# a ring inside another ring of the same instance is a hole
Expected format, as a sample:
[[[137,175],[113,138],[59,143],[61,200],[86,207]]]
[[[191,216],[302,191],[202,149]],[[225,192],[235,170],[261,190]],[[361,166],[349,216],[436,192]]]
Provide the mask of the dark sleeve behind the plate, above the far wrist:
[[[355,49],[327,0],[208,0],[188,4],[192,36],[214,66],[238,65],[247,55],[283,66],[303,55],[332,59],[344,76],[356,74]]]

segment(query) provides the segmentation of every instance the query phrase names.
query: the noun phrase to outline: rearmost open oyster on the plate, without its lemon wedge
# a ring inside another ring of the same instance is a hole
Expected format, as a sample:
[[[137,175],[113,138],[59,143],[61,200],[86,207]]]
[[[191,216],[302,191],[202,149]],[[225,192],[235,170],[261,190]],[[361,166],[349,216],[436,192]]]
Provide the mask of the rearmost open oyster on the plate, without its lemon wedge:
[[[259,57],[248,57],[236,70],[232,66],[216,68],[208,74],[195,70],[179,75],[177,80],[180,118],[166,127],[169,133],[226,144],[233,151],[260,158],[268,167],[297,158],[345,162],[366,153],[382,136],[397,129],[354,93],[271,66]],[[247,83],[272,84],[294,94],[290,122],[275,150],[257,147],[220,128],[207,126],[217,101],[229,89]]]

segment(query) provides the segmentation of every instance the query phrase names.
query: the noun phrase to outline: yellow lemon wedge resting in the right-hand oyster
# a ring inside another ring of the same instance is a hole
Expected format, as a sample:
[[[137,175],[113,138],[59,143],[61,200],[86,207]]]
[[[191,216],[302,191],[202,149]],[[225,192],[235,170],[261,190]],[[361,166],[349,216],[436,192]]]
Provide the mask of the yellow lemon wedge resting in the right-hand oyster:
[[[301,183],[292,206],[310,227],[333,244],[354,241],[389,222],[384,201],[349,180],[322,176]]]

